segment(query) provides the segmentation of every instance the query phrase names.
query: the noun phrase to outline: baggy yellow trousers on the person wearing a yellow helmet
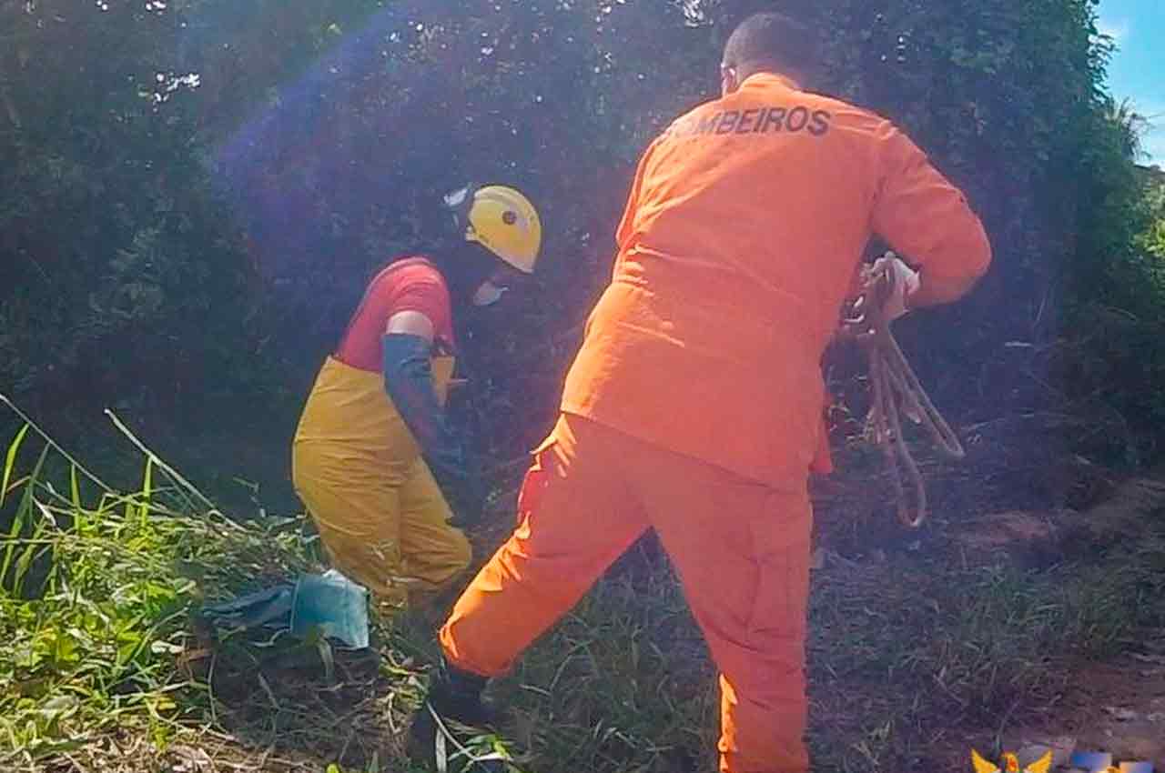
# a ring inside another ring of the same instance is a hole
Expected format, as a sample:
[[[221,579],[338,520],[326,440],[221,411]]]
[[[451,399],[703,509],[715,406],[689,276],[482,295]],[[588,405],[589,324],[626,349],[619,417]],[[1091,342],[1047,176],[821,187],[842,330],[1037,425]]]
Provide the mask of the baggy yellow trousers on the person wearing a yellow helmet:
[[[452,364],[433,370],[444,397]],[[382,604],[439,591],[469,565],[469,542],[450,525],[380,374],[327,360],[299,419],[291,476],[332,565]]]

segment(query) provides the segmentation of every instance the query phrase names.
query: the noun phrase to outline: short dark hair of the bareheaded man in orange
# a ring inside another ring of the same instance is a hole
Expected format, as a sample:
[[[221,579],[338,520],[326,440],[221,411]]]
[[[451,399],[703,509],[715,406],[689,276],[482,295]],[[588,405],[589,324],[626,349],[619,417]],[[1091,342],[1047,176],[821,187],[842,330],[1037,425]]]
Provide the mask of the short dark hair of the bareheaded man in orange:
[[[812,29],[778,13],[753,14],[742,21],[725,44],[723,64],[747,70],[813,72],[820,65],[820,47]]]

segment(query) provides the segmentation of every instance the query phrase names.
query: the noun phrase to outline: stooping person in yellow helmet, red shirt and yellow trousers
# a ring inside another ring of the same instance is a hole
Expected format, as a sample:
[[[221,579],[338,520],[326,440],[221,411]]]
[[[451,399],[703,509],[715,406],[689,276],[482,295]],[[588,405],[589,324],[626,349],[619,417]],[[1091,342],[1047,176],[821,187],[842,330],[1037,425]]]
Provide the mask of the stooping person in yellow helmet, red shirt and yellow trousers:
[[[445,205],[453,244],[394,258],[372,279],[292,445],[295,488],[327,558],[390,612],[465,570],[471,548],[458,526],[487,494],[444,410],[453,309],[499,300],[532,272],[542,239],[537,211],[514,189],[468,186]]]

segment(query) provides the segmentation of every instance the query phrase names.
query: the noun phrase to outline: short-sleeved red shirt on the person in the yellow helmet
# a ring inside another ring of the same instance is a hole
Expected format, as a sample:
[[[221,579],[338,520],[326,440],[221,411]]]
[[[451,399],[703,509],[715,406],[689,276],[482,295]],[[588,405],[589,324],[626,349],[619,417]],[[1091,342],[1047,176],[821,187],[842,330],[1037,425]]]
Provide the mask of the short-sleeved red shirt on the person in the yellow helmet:
[[[433,324],[435,345],[452,354],[453,314],[445,277],[424,257],[405,257],[394,261],[368,284],[336,349],[336,359],[379,373],[383,367],[380,341],[388,318],[402,311],[428,317]]]

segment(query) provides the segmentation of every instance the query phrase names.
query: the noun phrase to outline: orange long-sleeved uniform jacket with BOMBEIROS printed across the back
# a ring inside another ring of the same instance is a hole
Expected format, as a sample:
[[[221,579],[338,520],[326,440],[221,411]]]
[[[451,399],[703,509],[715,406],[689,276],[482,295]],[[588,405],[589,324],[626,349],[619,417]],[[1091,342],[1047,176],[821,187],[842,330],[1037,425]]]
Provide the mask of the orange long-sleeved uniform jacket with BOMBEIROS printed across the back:
[[[820,440],[820,357],[870,236],[925,276],[990,262],[963,196],[889,121],[755,75],[647,149],[563,410],[781,484]]]

